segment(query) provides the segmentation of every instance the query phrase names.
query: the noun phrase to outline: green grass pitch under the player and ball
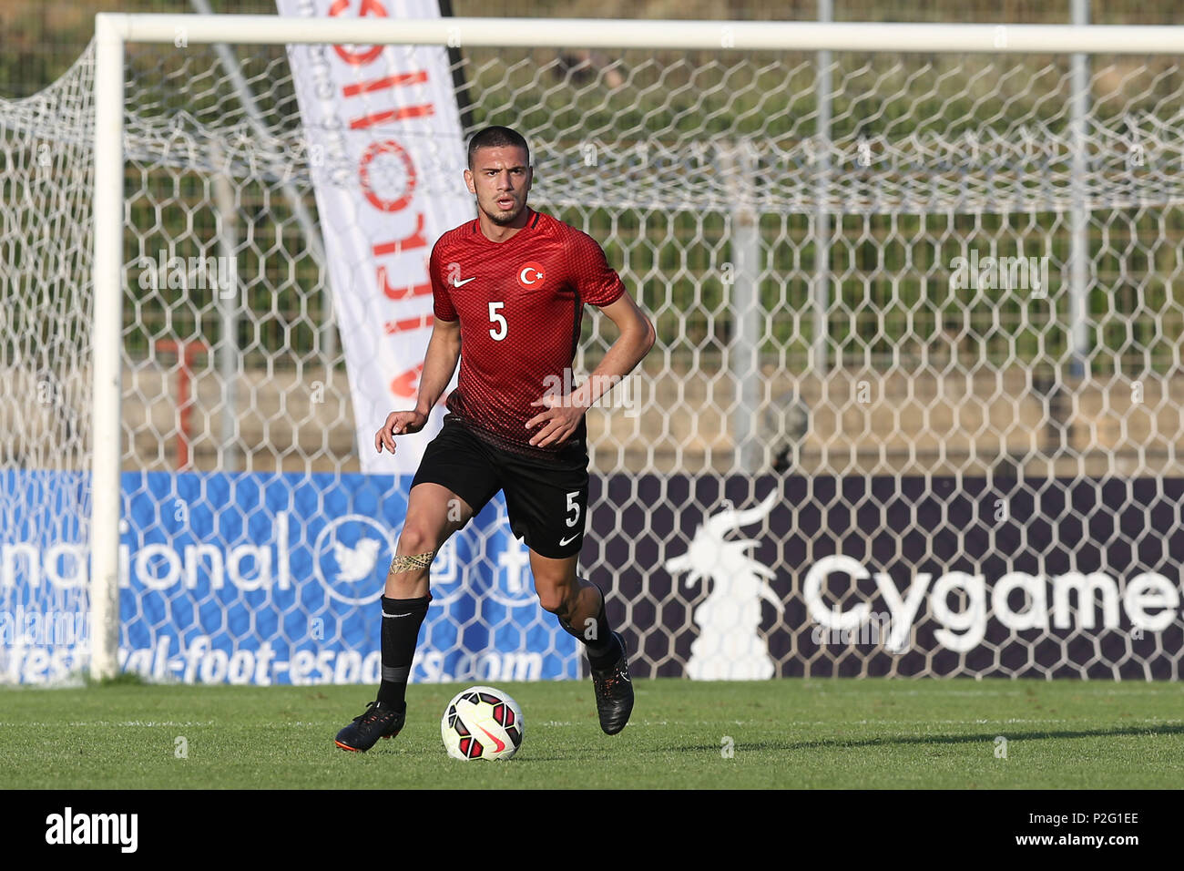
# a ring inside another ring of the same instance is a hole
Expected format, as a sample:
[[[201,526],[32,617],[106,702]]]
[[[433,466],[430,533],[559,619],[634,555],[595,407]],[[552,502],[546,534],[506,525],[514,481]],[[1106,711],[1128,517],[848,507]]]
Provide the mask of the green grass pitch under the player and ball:
[[[362,686],[0,690],[0,788],[1179,788],[1184,685],[1006,680],[637,680],[618,736],[591,681],[503,684],[507,762],[440,743],[463,685],[417,685],[367,754],[333,743]],[[997,737],[1006,738],[1006,757]],[[180,741],[180,739],[184,739]],[[184,758],[179,752],[184,750]]]

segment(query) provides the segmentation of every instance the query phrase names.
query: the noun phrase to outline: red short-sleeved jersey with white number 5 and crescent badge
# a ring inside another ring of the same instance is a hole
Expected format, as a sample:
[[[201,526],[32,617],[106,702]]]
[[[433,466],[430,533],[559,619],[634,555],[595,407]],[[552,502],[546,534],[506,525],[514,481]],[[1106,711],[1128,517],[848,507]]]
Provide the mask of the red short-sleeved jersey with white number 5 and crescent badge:
[[[429,265],[436,318],[461,320],[461,377],[452,416],[501,448],[555,454],[583,442],[584,422],[564,446],[538,448],[530,403],[564,395],[585,303],[607,306],[625,292],[596,239],[527,207],[527,224],[491,242],[477,219],[440,236]],[[572,384],[574,389],[578,384]]]

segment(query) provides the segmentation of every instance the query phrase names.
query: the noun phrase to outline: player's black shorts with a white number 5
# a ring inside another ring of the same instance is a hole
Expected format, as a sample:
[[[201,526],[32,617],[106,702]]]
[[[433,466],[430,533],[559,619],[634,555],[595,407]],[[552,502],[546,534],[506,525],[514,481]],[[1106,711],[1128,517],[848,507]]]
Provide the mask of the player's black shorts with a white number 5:
[[[580,436],[573,434],[554,460],[535,460],[483,441],[449,416],[424,450],[411,486],[448,487],[474,515],[503,491],[515,538],[540,556],[570,557],[584,544],[588,504],[588,455]]]

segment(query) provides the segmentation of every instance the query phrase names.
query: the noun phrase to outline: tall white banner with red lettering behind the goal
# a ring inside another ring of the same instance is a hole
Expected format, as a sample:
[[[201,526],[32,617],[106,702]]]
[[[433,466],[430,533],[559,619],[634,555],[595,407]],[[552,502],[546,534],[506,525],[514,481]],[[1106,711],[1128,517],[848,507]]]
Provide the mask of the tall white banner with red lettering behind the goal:
[[[276,0],[282,15],[439,18],[438,0]],[[391,411],[412,409],[432,331],[427,260],[476,217],[444,46],[290,45],[362,472],[408,473],[444,415],[374,450]],[[453,376],[455,386],[455,376]]]

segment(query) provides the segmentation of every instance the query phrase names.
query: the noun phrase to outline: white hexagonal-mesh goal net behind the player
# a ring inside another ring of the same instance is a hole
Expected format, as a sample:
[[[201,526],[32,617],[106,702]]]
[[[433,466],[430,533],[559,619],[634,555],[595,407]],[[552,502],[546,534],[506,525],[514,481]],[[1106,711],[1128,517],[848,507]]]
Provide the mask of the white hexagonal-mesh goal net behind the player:
[[[1178,55],[712,26],[449,52],[463,134],[520,129],[657,327],[587,415],[581,571],[635,674],[1179,678]],[[371,683],[410,475],[359,465],[289,56],[225,40],[126,50],[120,666]],[[94,629],[94,73],[0,100],[5,683]],[[413,680],[583,673],[507,526],[437,557]]]

